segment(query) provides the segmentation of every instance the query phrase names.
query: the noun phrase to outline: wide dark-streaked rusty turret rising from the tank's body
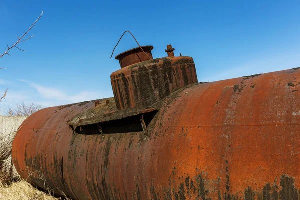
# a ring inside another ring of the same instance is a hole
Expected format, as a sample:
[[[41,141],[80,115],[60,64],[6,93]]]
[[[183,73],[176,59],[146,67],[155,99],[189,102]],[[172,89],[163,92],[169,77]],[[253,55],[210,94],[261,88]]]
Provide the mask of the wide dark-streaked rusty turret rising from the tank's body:
[[[146,108],[170,93],[198,82],[191,57],[165,57],[140,62],[111,74],[119,110]]]

